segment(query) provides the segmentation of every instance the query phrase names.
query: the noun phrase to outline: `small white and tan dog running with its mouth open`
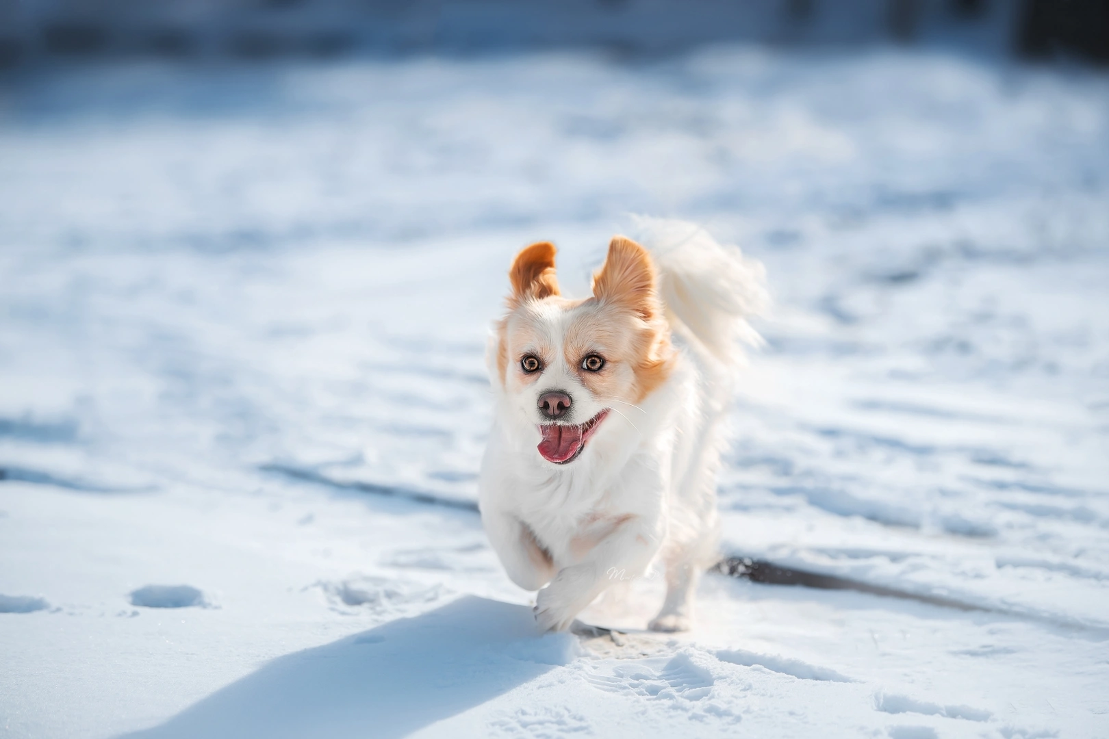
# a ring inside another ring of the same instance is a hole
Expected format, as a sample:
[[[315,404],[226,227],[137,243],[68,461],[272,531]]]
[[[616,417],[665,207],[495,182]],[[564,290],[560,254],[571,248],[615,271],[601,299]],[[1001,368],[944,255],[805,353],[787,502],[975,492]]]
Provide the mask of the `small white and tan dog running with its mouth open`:
[[[725,420],[764,270],[694,224],[641,225],[643,245],[612,238],[584,299],[560,292],[552,244],[522,249],[490,332],[481,521],[512,582],[539,591],[545,630],[655,560],[667,595],[649,627],[688,630],[718,555]]]

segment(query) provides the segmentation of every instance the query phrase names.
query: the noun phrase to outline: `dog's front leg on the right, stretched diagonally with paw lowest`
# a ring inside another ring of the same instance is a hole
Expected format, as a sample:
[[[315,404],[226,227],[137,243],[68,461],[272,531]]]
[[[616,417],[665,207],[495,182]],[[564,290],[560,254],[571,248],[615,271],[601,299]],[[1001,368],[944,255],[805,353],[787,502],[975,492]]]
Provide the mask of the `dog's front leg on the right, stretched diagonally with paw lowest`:
[[[662,542],[657,516],[624,517],[578,564],[559,571],[536,598],[536,622],[542,629],[566,630],[573,617],[609,585],[637,577]]]

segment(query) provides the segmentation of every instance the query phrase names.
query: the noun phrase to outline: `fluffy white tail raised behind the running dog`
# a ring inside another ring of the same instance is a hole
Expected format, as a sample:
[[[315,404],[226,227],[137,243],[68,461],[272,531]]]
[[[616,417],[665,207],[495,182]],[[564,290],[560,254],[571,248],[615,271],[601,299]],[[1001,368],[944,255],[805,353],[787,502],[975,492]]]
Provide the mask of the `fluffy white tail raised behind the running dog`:
[[[762,343],[747,322],[770,302],[762,263],[716,243],[693,223],[641,217],[637,226],[640,244],[659,268],[671,328],[706,359],[725,368],[742,365],[743,345]]]

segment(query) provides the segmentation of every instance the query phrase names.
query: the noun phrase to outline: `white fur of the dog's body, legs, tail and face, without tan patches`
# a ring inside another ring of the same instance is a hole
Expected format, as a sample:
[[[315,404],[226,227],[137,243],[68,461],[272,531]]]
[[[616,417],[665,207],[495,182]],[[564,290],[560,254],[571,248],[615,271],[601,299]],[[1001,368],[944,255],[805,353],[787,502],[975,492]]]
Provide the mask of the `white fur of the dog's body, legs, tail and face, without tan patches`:
[[[497,407],[481,462],[481,519],[509,577],[523,588],[542,588],[536,605],[542,628],[567,628],[607,587],[661,557],[668,593],[651,628],[684,630],[700,575],[718,554],[724,419],[743,359],[740,345],[759,341],[746,318],[766,301],[763,270],[696,225],[647,218],[639,225],[679,348],[667,381],[638,407],[592,398],[561,359],[521,392],[492,383]],[[545,317],[554,346],[566,328],[560,312]],[[496,341],[489,351],[494,376]],[[574,389],[582,418],[607,407],[611,412],[577,460],[557,465],[536,449],[536,400],[566,387]]]

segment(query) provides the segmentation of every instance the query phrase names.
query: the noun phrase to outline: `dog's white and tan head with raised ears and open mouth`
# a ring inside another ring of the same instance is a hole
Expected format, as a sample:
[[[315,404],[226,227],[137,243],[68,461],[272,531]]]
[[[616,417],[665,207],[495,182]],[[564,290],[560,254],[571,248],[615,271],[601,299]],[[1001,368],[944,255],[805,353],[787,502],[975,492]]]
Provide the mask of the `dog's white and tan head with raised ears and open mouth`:
[[[509,277],[490,371],[506,412],[538,430],[539,454],[569,464],[613,412],[634,428],[638,404],[673,367],[654,264],[618,236],[593,276],[592,297],[571,300],[559,292],[554,246],[543,242],[516,256]]]

